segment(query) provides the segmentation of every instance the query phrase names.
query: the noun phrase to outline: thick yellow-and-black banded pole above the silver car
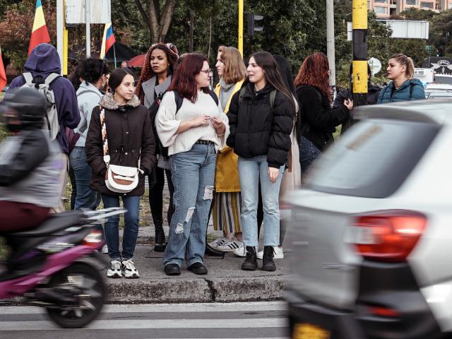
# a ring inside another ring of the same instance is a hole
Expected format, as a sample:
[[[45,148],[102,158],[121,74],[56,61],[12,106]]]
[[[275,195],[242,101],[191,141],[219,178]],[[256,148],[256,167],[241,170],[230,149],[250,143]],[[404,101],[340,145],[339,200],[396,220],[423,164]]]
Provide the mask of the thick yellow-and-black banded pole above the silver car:
[[[353,0],[353,97],[355,105],[367,99],[367,0]]]

